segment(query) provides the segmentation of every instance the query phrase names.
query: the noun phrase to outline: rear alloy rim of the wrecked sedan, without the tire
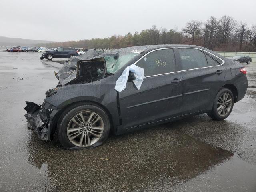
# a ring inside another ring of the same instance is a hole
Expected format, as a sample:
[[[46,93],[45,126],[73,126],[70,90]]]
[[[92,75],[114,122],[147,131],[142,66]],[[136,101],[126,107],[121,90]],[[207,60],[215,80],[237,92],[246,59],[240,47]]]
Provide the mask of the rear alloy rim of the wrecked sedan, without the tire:
[[[217,111],[220,116],[226,116],[232,107],[232,97],[229,93],[223,93],[217,102]]]

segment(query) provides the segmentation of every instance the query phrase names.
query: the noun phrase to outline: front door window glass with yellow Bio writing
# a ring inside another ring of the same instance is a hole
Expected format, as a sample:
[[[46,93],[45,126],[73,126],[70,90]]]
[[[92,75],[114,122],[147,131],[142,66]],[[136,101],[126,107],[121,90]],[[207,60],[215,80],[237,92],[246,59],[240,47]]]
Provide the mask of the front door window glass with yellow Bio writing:
[[[145,76],[176,71],[173,49],[162,49],[151,52],[137,62],[136,65],[144,68]]]

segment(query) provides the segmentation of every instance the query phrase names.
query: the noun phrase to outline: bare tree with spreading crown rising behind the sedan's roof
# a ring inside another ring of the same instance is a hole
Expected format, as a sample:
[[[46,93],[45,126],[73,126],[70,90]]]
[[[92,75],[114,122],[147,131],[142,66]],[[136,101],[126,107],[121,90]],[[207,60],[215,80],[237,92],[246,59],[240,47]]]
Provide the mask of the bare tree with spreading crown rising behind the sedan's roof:
[[[186,23],[186,27],[182,29],[182,32],[185,34],[189,34],[192,38],[192,45],[194,45],[194,41],[197,36],[199,36],[201,32],[202,23],[200,21],[192,20]]]

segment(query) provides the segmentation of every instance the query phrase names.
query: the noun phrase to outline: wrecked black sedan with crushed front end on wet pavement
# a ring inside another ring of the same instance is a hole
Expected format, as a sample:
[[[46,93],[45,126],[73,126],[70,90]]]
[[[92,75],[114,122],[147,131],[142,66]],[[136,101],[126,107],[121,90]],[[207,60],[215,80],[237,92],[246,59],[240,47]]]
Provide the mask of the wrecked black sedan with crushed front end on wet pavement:
[[[143,70],[138,79],[129,66]],[[28,127],[40,139],[54,133],[68,149],[101,145],[110,131],[122,134],[207,113],[224,120],[246,94],[246,68],[211,50],[188,45],[89,50],[66,61],[59,83],[42,105],[26,102]],[[116,83],[121,80],[122,91]],[[138,87],[136,80],[142,82]]]

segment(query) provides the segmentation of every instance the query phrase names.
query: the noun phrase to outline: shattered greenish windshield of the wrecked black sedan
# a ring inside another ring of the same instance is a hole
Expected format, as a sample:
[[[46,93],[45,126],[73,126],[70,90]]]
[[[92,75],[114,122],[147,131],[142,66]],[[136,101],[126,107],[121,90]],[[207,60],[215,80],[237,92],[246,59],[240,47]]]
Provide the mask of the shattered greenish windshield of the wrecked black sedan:
[[[132,52],[132,50],[120,50],[116,55],[105,56],[107,73],[114,74],[138,54],[138,52]]]

